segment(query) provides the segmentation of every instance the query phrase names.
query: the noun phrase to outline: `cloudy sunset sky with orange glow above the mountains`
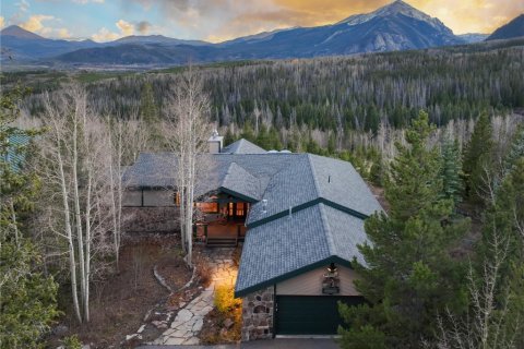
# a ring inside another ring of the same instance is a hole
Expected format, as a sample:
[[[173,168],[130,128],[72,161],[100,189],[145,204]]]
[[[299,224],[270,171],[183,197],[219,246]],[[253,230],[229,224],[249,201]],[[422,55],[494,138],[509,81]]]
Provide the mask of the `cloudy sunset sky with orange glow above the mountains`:
[[[0,27],[53,38],[114,40],[162,34],[222,41],[264,31],[317,26],[391,0],[0,0]],[[455,34],[491,33],[524,12],[524,0],[407,0]]]

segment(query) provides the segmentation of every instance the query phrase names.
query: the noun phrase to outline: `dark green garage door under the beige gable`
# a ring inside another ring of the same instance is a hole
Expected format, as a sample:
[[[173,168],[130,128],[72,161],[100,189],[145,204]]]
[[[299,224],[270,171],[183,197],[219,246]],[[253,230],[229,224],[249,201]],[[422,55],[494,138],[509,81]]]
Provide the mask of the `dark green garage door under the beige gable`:
[[[337,302],[361,304],[362,297],[276,296],[276,335],[334,335],[342,318]]]

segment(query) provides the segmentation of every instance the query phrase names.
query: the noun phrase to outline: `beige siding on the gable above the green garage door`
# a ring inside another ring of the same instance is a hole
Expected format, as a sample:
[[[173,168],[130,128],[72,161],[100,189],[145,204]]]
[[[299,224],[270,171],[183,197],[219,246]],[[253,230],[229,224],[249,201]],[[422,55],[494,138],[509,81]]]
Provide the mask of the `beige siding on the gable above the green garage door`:
[[[276,284],[276,294],[322,296],[322,279],[326,268],[327,265]],[[336,296],[360,296],[353,284],[356,278],[355,272],[341,265],[337,268],[341,279],[341,293]]]

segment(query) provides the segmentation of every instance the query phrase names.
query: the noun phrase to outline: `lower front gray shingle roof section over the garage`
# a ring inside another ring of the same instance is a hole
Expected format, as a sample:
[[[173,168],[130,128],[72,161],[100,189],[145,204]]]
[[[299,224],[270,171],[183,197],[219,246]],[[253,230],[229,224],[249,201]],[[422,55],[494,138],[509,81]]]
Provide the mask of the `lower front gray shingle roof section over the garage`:
[[[246,236],[235,291],[243,294],[297,269],[336,256],[365,264],[364,220],[324,204],[252,228]]]

